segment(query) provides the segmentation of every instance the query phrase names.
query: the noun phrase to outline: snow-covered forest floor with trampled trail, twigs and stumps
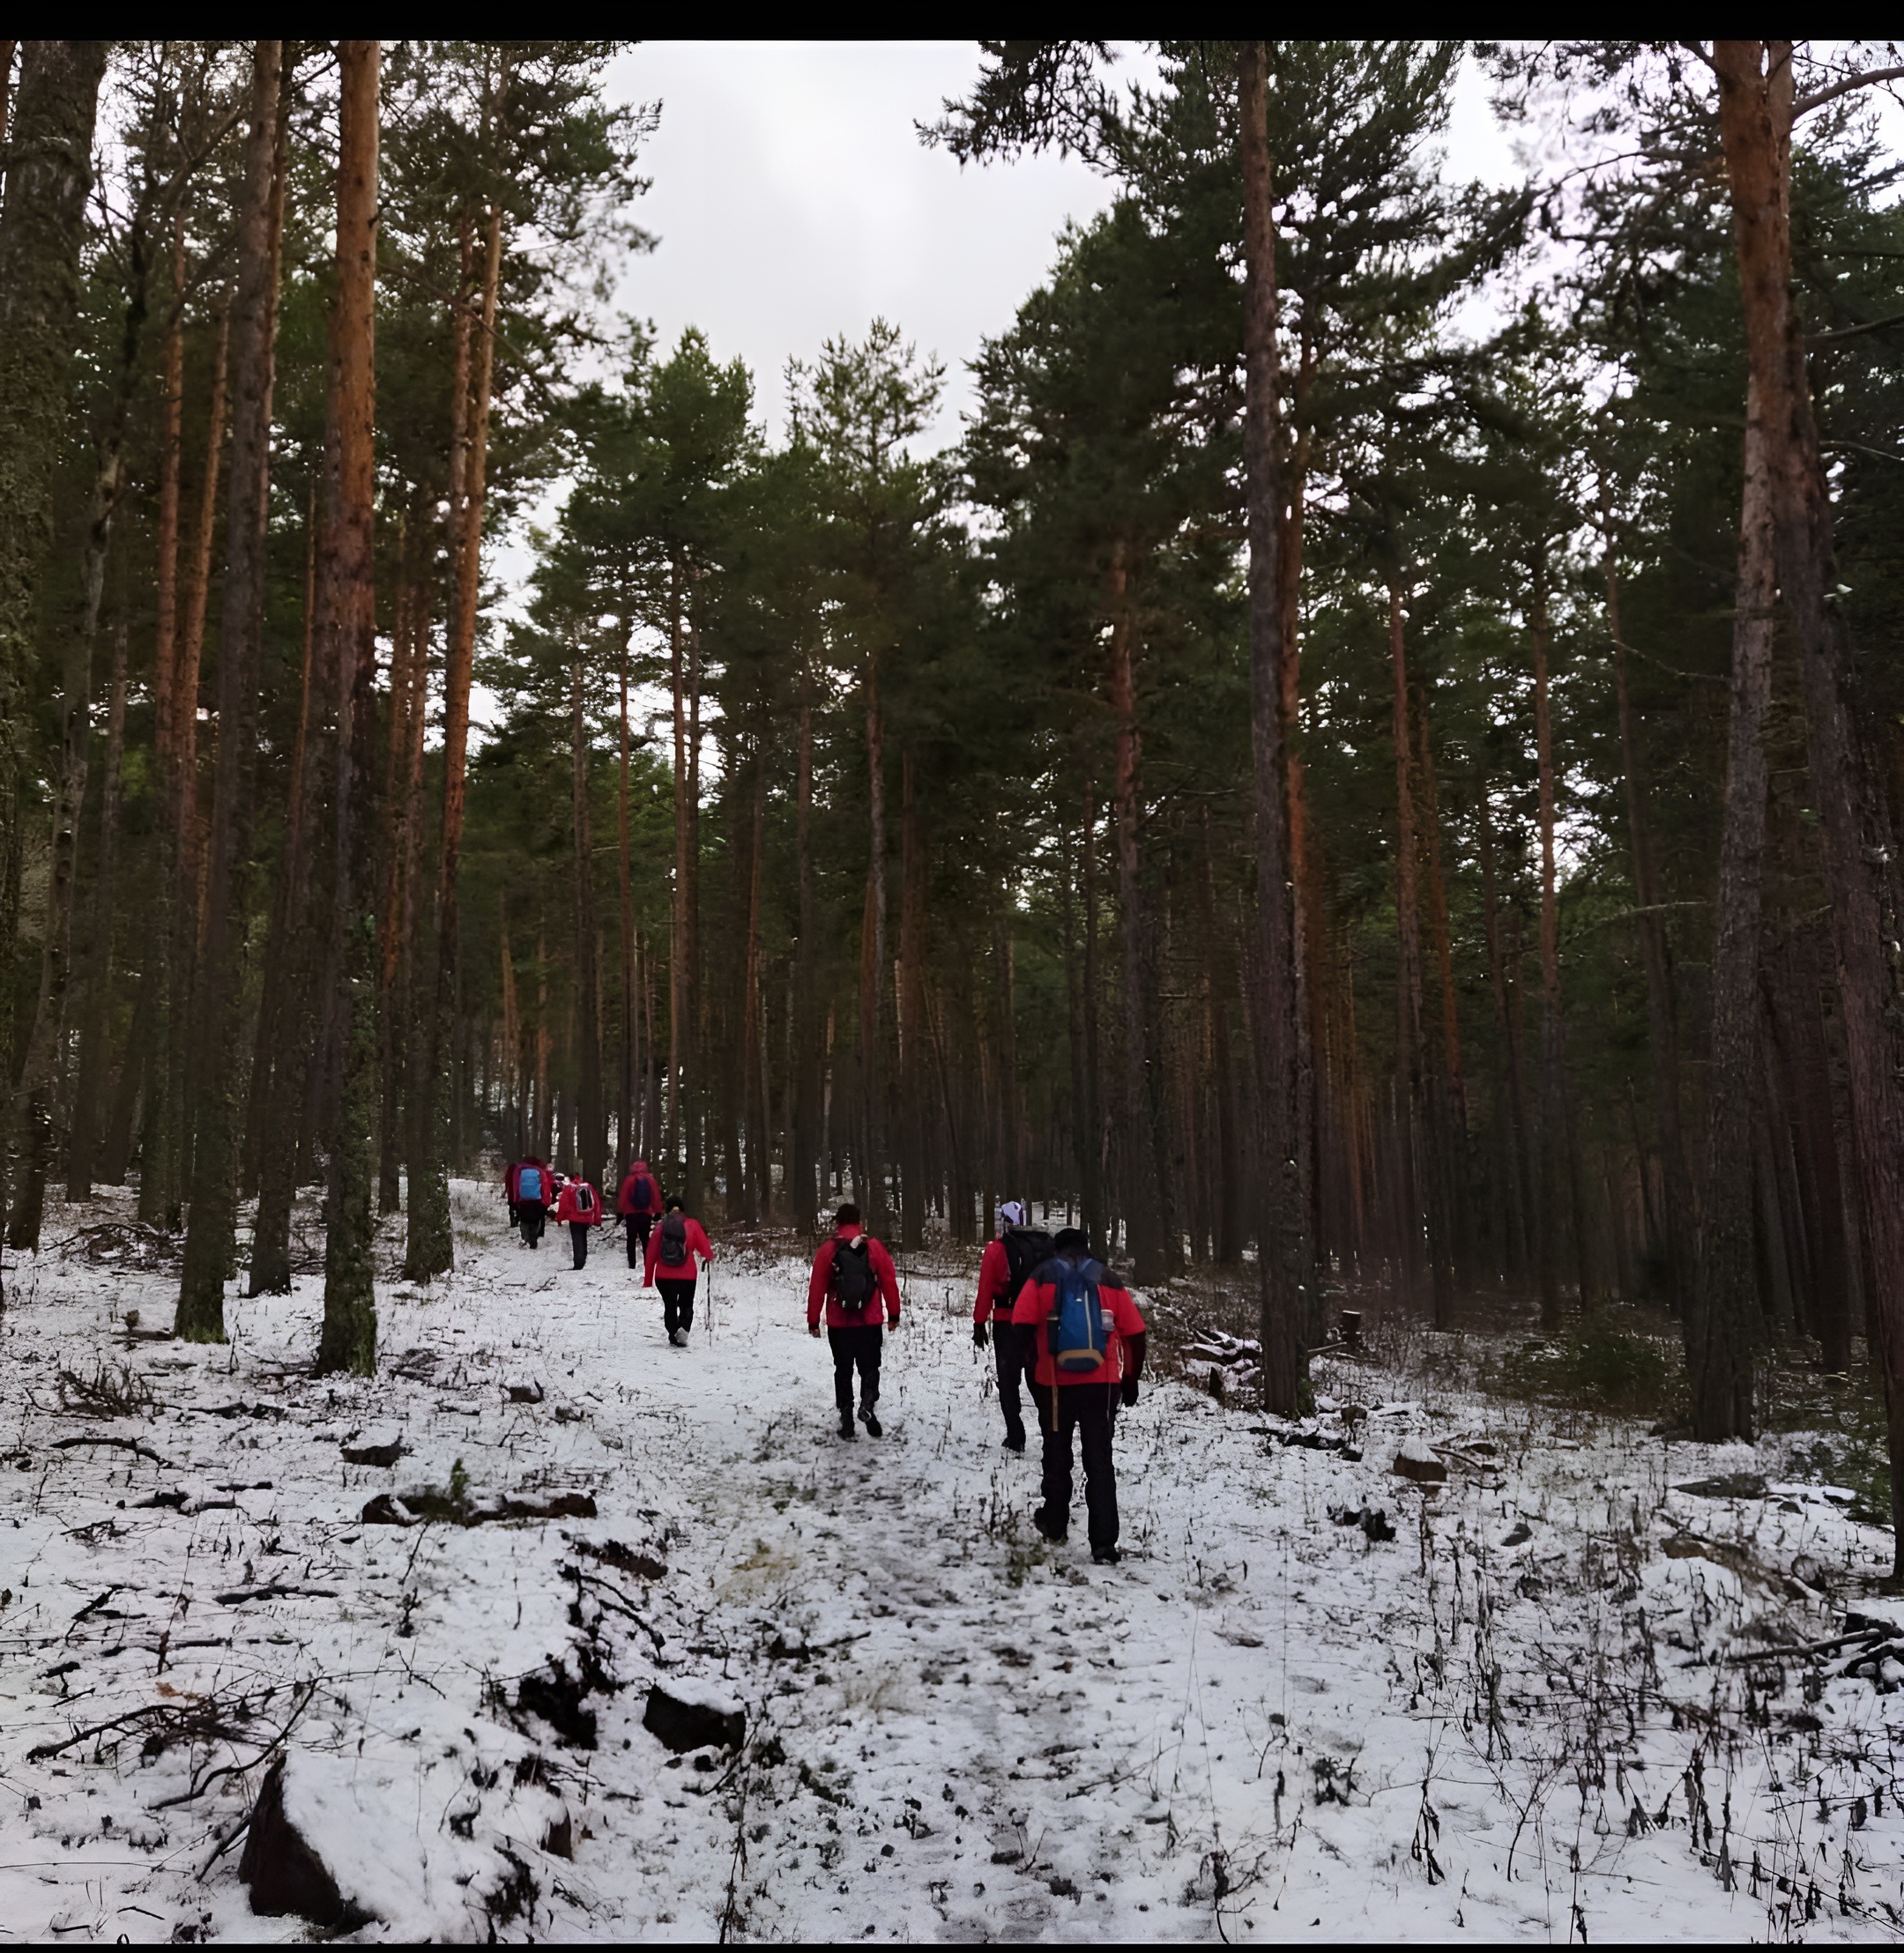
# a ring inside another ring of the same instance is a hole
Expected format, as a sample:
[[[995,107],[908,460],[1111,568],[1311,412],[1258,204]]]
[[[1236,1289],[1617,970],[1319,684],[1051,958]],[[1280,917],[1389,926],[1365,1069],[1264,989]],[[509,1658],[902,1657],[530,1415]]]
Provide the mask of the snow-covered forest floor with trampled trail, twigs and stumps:
[[[363,1939],[1898,1935],[1904,1668],[1775,1654],[1886,1611],[1888,1533],[1674,1490],[1779,1445],[1431,1392],[1400,1338],[1318,1363],[1314,1445],[1158,1379],[1096,1568],[1082,1486],[1031,1531],[947,1256],[844,1445],[797,1262],[719,1264],[674,1350],[619,1252],[455,1205],[373,1383],[309,1373],[314,1275],[148,1340],[172,1281],[62,1254],[98,1203],[10,1269],[0,1935],[310,1935],[238,1875],[279,1756]],[[102,1365],[152,1402],[62,1404]],[[418,1488],[596,1517],[365,1523]],[[658,1676],[742,1750],[670,1756]]]

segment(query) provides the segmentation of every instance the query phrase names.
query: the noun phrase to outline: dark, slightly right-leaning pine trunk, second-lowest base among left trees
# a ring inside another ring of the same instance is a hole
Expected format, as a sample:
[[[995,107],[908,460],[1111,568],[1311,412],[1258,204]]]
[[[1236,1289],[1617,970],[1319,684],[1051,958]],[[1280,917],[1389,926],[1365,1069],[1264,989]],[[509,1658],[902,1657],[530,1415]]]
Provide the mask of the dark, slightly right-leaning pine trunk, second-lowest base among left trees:
[[[273,195],[279,162],[283,43],[252,55],[252,127],[238,209],[236,387],[225,598],[219,617],[219,756],[197,982],[191,1225],[174,1334],[225,1342],[225,1283],[236,1266],[238,1051],[244,1027],[244,937],[256,814],[258,670],[264,639],[266,518],[271,482],[271,352],[277,336]]]

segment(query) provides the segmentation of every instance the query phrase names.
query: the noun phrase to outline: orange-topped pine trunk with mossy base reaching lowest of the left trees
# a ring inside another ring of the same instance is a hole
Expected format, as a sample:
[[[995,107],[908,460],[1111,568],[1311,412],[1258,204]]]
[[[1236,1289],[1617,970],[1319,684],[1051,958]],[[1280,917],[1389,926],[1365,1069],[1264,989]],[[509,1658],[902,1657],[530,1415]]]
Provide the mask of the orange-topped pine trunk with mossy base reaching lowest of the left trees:
[[[324,1226],[324,1330],[318,1373],[377,1367],[377,1264],[371,1191],[377,1174],[371,1121],[377,1098],[375,922],[369,902],[375,773],[377,580],[375,512],[375,291],[377,291],[377,76],[383,43],[338,43],[338,287],[330,312],[330,508],[318,584],[326,664],[338,691],[336,930],[342,996],[342,1074]],[[414,1197],[414,1189],[412,1189]]]

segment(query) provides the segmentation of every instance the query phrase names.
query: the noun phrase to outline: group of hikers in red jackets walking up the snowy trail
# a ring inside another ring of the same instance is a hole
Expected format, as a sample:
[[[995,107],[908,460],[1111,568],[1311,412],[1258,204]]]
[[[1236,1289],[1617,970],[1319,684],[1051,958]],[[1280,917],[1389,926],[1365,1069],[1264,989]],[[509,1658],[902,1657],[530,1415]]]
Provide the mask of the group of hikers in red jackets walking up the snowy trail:
[[[574,1266],[588,1262],[590,1228],[607,1219],[601,1195],[580,1176],[557,1174],[545,1160],[514,1160],[504,1174],[510,1226],[525,1248],[541,1246],[549,1209],[566,1223]],[[642,1287],[660,1289],[668,1342],[685,1348],[693,1328],[699,1269],[715,1260],[707,1230],[678,1195],[664,1195],[646,1160],[621,1178],[615,1217],[623,1223],[629,1267]],[[637,1262],[639,1258],[639,1262]],[[807,1279],[807,1332],[822,1332],[834,1357],[834,1406],[840,1437],[853,1441],[879,1422],[879,1361],[885,1332],[900,1324],[898,1269],[848,1201],[834,1213],[832,1236],[820,1242]],[[1043,1439],[1041,1504],[1031,1523],[1053,1541],[1070,1529],[1074,1451],[1084,1459],[1084,1508],[1092,1558],[1115,1566],[1117,1473],[1111,1437],[1119,1404],[1137,1402],[1144,1371],[1144,1318],[1123,1281],[1090,1250],[1082,1228],[1056,1234],[1029,1225],[1021,1201],[1002,1201],[998,1234],[978,1262],[973,1344],[990,1344],[998,1365],[998,1404],[1006,1449],[1025,1449],[1025,1396]],[[857,1406],[855,1406],[857,1383]],[[1076,1447],[1072,1437],[1076,1434]]]

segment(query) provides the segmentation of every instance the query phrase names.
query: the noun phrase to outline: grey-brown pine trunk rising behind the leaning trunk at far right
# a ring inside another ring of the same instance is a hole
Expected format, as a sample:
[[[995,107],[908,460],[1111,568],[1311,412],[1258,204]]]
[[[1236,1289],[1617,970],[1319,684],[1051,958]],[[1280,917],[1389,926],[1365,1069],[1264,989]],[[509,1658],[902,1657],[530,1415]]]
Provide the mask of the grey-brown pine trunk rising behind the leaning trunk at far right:
[[[1759,906],[1765,855],[1765,711],[1777,576],[1765,480],[1763,402],[1746,404],[1746,471],[1738,523],[1738,598],[1732,611],[1732,701],[1726,793],[1718,834],[1713,939],[1713,1055],[1707,1068],[1705,1185],[1699,1256],[1685,1320],[1693,1435],[1701,1443],[1752,1437],[1752,1344],[1759,1334],[1752,1228],[1759,1059]]]

